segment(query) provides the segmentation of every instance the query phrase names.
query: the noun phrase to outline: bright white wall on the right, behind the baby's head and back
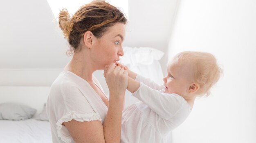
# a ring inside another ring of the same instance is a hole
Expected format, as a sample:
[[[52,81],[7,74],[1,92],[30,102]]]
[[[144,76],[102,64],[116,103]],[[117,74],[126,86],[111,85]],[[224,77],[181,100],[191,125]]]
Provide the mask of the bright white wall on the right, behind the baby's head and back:
[[[169,54],[184,50],[211,52],[224,76],[173,143],[256,143],[256,1],[181,0]]]

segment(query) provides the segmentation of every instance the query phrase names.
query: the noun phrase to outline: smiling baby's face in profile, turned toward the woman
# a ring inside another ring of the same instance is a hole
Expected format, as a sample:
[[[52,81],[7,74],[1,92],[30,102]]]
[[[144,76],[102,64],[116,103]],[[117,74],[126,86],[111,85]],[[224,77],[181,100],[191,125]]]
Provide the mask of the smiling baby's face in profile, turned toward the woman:
[[[182,97],[187,95],[191,84],[192,76],[189,66],[171,64],[167,67],[167,76],[163,78],[165,90],[164,93],[176,93]]]

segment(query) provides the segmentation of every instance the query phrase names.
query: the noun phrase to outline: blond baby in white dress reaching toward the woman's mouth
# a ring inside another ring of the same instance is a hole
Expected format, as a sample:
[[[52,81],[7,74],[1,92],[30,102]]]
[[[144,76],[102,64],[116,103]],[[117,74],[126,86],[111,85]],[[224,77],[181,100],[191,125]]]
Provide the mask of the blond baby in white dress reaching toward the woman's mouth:
[[[127,89],[140,100],[123,111],[121,143],[165,143],[166,135],[189,116],[195,98],[208,96],[222,72],[207,52],[177,54],[168,63],[164,85],[119,66],[128,70]]]

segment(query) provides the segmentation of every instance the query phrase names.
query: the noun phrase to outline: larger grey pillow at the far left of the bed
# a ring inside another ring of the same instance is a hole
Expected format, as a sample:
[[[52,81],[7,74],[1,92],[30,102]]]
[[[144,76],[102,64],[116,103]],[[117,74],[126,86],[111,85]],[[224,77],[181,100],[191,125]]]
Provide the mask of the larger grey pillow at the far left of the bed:
[[[25,120],[30,119],[36,113],[36,109],[29,106],[15,104],[15,103],[2,103],[0,104],[1,119],[6,120]]]

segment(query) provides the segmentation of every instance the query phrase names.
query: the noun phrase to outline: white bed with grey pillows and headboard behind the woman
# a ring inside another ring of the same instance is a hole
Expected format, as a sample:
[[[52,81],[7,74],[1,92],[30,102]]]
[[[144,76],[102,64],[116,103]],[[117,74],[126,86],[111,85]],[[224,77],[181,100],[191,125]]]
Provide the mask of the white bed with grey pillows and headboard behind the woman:
[[[49,90],[50,87],[0,86],[0,143],[52,143],[44,106]],[[3,106],[7,103],[11,105]]]

